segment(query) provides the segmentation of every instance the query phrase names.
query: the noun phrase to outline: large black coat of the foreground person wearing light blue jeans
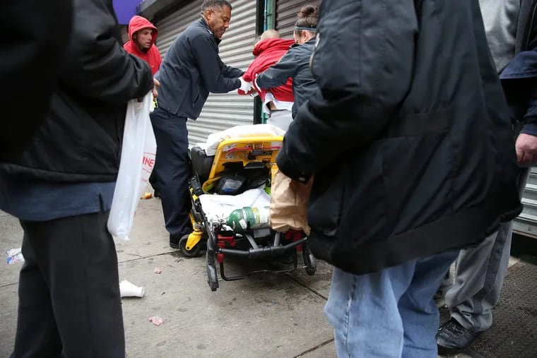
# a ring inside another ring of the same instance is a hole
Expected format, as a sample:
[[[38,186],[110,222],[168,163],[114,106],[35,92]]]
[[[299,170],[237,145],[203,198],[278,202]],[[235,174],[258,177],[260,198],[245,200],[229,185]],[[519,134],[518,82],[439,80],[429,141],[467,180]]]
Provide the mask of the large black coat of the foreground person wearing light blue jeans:
[[[416,11],[411,0],[323,1],[319,17],[320,90],[278,155],[293,179],[314,175],[315,256],[369,273],[476,244],[520,213],[477,0]]]

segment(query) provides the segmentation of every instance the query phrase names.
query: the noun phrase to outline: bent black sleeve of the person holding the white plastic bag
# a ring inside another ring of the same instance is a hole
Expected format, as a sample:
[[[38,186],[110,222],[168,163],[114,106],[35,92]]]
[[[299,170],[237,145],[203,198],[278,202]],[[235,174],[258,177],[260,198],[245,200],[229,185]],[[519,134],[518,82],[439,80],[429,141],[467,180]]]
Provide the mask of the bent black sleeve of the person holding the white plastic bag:
[[[146,95],[153,88],[151,68],[127,54],[119,39],[115,13],[105,1],[76,0],[71,52],[61,83],[110,103]]]

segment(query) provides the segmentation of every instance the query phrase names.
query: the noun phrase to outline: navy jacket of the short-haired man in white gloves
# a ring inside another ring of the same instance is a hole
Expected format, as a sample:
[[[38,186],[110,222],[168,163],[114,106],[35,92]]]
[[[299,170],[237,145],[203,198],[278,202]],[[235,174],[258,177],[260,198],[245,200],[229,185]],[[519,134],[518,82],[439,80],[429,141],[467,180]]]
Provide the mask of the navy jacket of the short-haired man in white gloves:
[[[155,78],[160,81],[158,107],[178,117],[196,119],[209,93],[240,88],[244,71],[223,64],[217,39],[203,18],[172,43]]]

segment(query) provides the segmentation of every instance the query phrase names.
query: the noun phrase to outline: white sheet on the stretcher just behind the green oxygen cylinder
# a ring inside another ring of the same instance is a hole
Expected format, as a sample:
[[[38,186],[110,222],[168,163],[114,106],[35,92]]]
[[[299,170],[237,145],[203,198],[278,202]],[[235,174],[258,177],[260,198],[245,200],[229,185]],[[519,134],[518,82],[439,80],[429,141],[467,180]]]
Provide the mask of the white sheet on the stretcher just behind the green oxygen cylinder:
[[[199,201],[208,222],[225,220],[235,209],[247,206],[262,208],[271,205],[271,197],[261,188],[249,189],[239,195],[203,194],[199,196]]]

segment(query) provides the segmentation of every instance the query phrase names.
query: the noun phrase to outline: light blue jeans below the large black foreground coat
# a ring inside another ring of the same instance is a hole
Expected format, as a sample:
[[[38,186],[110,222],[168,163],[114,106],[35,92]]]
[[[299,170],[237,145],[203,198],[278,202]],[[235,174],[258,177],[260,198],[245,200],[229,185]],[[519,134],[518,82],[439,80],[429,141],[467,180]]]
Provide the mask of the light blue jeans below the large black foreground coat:
[[[458,253],[365,275],[335,268],[324,314],[334,326],[338,357],[436,358],[439,311],[433,297]]]

